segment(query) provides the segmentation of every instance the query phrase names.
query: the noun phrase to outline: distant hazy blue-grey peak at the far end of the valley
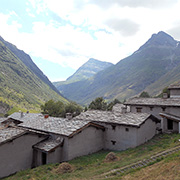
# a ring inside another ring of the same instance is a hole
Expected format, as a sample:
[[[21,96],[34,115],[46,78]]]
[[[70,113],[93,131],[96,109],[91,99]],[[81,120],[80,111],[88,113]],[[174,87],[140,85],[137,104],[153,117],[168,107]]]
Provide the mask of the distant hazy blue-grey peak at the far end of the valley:
[[[110,66],[113,66],[113,64],[109,62],[99,61],[99,60],[90,58],[66,81],[54,82],[53,84],[61,93],[66,93],[64,91],[66,91],[67,85],[74,84],[75,82],[87,80],[93,77],[98,72]]]

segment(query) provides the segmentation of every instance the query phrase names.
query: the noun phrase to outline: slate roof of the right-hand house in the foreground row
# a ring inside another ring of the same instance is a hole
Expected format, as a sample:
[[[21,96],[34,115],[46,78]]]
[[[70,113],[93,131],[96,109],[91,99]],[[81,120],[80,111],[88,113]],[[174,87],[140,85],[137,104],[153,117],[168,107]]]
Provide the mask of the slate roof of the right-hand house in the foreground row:
[[[120,125],[140,126],[151,115],[147,113],[113,113],[111,111],[91,110],[81,113],[74,119],[81,121],[114,123]]]

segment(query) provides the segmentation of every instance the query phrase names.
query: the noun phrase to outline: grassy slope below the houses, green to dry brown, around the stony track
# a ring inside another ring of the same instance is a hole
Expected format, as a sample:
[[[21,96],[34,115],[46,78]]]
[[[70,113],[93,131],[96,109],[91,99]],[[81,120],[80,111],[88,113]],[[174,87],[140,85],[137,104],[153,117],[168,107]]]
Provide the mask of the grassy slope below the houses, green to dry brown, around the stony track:
[[[92,155],[82,156],[71,160],[72,172],[60,173],[59,164],[49,164],[34,169],[18,172],[17,174],[5,178],[6,180],[80,180],[80,179],[179,179],[179,156],[180,151],[159,158],[145,167],[131,169],[122,174],[112,172],[112,170],[125,167],[132,163],[151,158],[152,155],[161,153],[169,148],[179,146],[179,134],[161,134],[155,136],[147,143],[136,148],[125,151],[114,152],[117,160],[106,161],[105,157],[109,151],[100,151]],[[172,177],[172,178],[170,178]]]

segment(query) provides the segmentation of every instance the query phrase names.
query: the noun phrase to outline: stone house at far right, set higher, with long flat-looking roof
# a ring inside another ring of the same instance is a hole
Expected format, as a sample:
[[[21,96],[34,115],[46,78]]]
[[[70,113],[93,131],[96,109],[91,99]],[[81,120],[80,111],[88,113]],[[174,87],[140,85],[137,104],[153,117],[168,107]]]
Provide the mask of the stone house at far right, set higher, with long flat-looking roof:
[[[170,97],[132,98],[125,102],[130,112],[150,113],[161,120],[162,132],[180,133],[180,85],[169,86]]]

